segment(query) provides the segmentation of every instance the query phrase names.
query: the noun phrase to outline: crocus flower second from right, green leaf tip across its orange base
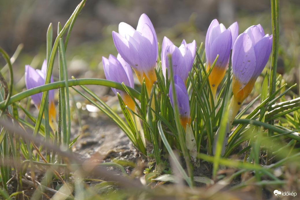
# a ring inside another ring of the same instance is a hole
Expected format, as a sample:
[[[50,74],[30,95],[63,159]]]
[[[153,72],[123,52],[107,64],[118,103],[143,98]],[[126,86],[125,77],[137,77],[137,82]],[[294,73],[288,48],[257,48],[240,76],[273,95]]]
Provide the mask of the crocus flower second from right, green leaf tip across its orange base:
[[[229,28],[219,24],[217,19],[212,20],[205,38],[206,71],[210,69],[219,55],[208,80],[215,98],[217,87],[222,81],[229,64],[230,50],[238,37],[238,23],[234,22]]]

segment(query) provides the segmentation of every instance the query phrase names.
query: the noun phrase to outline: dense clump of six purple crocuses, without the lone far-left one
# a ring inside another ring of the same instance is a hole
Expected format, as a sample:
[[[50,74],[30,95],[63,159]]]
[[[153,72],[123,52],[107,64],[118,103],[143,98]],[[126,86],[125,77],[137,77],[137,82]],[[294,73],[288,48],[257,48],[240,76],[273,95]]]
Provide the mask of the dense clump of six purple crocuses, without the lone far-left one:
[[[119,24],[119,33],[113,31],[113,41],[120,56],[118,59],[110,55],[109,59],[103,58],[104,71],[107,79],[115,82],[124,82],[131,86],[131,66],[140,83],[145,79],[148,95],[150,95],[152,86],[156,81],[155,69],[158,58],[158,41],[154,27],[146,14],[140,16],[137,29],[121,22]],[[253,89],[254,83],[262,72],[268,61],[272,46],[272,36],[265,35],[261,25],[251,26],[244,33],[238,36],[238,23],[235,22],[225,28],[217,19],[214,19],[207,31],[205,38],[206,71],[208,72],[212,64],[214,68],[208,76],[208,81],[215,100],[217,87],[222,81],[229,65],[230,52],[232,50],[232,91],[233,97],[229,105],[229,117],[226,124],[226,133],[232,125],[241,103],[247,98]],[[122,59],[121,58],[124,59]],[[193,140],[193,133],[190,127],[190,105],[187,94],[187,79],[193,67],[196,56],[196,41],[186,43],[182,41],[179,47],[175,46],[171,40],[164,37],[161,52],[162,73],[165,78],[170,78],[170,69],[173,72],[173,85],[169,88],[169,97],[172,107],[179,108],[180,123],[183,126],[187,138]],[[122,59],[122,62],[120,59]],[[217,60],[216,60],[217,58]],[[125,63],[125,64],[124,64]],[[172,66],[170,66],[172,64]],[[168,70],[168,77],[166,71]],[[132,83],[133,84],[133,83]],[[113,89],[117,93],[116,89]],[[134,104],[127,93],[118,91],[125,104],[134,110]],[[174,94],[175,92],[175,94]],[[176,101],[175,101],[175,99]],[[154,99],[152,99],[153,101]],[[151,105],[153,106],[153,104]],[[218,133],[214,140],[217,141]],[[228,136],[223,143],[222,154],[225,152],[228,144]],[[195,144],[189,143],[189,150],[195,153]],[[194,154],[196,155],[196,153]]]

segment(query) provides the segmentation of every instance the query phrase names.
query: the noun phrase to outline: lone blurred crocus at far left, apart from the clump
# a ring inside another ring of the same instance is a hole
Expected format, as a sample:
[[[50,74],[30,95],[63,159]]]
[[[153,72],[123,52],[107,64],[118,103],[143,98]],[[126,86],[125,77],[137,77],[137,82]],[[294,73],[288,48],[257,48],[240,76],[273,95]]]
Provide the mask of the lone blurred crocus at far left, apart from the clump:
[[[27,89],[35,88],[45,84],[47,72],[47,62],[44,60],[41,70],[33,69],[30,65],[25,65],[25,85]],[[53,82],[53,77],[51,76],[50,82]],[[39,109],[41,106],[43,93],[33,94],[31,99],[35,106]],[[55,120],[55,104],[54,104],[54,90],[49,90],[49,117]]]

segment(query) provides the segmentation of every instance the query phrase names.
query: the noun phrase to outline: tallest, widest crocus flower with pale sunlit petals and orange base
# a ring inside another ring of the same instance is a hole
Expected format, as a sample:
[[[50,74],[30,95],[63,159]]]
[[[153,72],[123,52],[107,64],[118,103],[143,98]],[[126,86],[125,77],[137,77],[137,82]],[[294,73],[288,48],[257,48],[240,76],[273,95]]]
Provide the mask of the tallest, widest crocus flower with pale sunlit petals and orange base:
[[[146,88],[150,94],[156,81],[158,42],[148,16],[146,14],[140,16],[137,30],[121,22],[119,33],[113,31],[113,41],[122,58],[134,69],[140,83],[145,78]]]

